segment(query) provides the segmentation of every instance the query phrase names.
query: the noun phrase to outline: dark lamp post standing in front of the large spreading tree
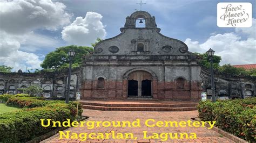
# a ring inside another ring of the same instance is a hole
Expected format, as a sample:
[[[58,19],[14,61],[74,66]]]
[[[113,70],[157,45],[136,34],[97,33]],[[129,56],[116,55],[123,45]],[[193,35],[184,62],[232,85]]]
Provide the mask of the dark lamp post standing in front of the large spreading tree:
[[[71,67],[72,67],[72,60],[73,57],[75,56],[76,52],[73,51],[72,49],[69,50],[69,77],[68,77],[68,85],[66,87],[66,101],[65,103],[69,103],[69,92],[70,92],[70,80],[71,80]]]

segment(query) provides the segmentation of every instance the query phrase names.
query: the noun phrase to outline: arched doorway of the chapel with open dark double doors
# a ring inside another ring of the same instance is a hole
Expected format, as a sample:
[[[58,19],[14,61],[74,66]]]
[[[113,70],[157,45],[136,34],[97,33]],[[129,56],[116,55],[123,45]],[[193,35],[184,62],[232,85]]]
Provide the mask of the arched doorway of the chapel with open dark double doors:
[[[137,70],[129,74],[128,97],[152,97],[152,75]]]

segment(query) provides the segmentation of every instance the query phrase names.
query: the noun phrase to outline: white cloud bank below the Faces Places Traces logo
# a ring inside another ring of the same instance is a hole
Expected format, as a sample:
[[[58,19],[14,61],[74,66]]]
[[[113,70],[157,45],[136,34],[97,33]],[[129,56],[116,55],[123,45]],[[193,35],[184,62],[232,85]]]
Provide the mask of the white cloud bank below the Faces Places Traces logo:
[[[209,48],[214,49],[215,55],[220,55],[221,64],[231,65],[256,63],[256,19],[253,19],[250,28],[235,28],[235,32],[211,35],[205,42],[199,44],[187,38],[189,51],[204,53]],[[242,40],[241,33],[247,34],[247,39]]]

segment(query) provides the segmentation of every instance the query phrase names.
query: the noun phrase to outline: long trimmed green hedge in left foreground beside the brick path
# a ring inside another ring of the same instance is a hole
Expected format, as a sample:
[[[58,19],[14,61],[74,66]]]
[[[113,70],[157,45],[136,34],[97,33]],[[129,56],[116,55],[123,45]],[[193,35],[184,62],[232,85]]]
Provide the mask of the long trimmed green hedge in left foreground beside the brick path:
[[[39,135],[55,130],[54,127],[42,127],[40,119],[64,121],[74,119],[70,110],[63,108],[33,108],[21,112],[5,113],[0,116],[0,141],[25,142]]]

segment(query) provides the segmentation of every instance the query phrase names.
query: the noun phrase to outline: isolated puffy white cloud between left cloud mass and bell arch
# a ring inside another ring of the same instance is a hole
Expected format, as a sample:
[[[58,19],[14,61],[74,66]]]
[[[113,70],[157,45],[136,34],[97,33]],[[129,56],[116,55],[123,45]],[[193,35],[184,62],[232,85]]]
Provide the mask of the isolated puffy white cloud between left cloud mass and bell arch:
[[[100,21],[102,15],[96,12],[87,12],[85,18],[77,17],[69,26],[62,31],[62,39],[80,46],[89,46],[97,38],[105,38],[106,31]]]

